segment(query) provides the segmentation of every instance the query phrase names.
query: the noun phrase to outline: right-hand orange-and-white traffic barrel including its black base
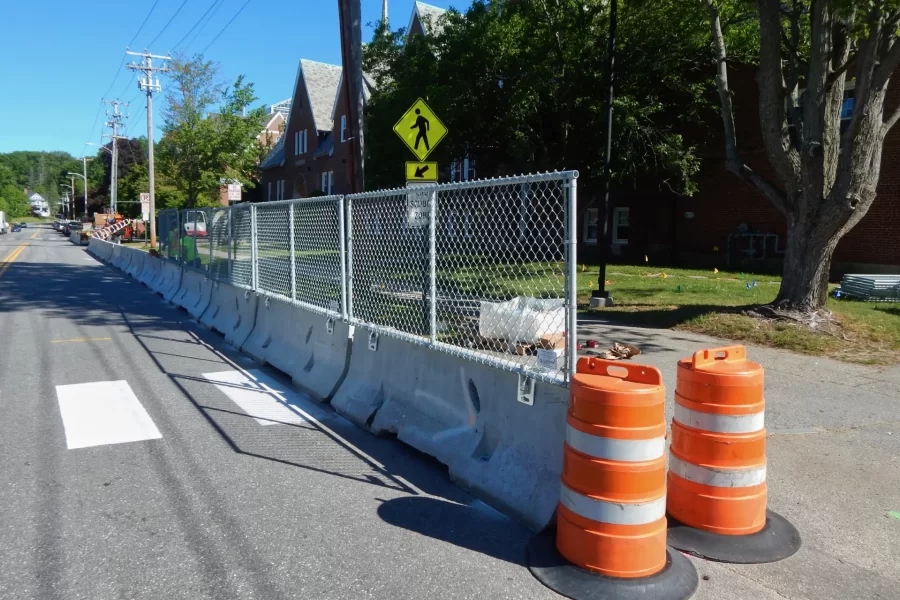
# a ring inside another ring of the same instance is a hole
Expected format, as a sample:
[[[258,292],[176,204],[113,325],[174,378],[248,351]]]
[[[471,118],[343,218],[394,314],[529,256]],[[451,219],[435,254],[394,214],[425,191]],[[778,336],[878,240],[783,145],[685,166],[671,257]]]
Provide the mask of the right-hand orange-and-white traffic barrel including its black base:
[[[669,543],[725,562],[787,558],[797,530],[766,510],[763,369],[743,346],[678,361],[669,456]]]

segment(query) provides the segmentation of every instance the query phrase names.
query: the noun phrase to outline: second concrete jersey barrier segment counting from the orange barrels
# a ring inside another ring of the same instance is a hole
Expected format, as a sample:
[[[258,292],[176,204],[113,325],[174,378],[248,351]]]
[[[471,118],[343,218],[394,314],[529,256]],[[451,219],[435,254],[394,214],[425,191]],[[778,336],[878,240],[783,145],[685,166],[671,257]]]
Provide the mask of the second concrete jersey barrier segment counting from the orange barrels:
[[[322,402],[332,396],[346,370],[349,336],[349,325],[340,319],[329,321],[289,302],[260,297],[256,326],[241,350],[287,373]]]

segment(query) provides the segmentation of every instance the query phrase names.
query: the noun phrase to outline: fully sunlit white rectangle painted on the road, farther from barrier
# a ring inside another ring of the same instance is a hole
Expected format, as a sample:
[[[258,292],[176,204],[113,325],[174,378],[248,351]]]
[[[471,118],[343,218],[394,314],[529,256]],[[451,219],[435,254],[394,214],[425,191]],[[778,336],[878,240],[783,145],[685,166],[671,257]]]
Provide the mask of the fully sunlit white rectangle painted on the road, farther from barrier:
[[[162,437],[127,381],[56,386],[69,450]]]

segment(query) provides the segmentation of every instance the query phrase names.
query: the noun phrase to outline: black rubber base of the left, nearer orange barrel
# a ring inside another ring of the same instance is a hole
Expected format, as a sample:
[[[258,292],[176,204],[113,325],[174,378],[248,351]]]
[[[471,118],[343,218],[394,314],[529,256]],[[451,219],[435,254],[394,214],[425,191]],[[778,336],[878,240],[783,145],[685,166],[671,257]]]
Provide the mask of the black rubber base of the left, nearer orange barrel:
[[[697,570],[681,553],[666,548],[666,566],[650,577],[618,579],[580,569],[556,549],[555,535],[528,543],[528,570],[548,588],[572,600],[686,600],[697,591]]]

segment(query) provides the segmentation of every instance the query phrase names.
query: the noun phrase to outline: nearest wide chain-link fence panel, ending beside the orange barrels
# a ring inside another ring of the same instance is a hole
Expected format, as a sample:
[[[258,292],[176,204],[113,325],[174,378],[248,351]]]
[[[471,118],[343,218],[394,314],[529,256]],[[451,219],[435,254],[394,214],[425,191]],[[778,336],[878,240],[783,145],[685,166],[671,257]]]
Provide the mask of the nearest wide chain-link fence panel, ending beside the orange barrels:
[[[576,177],[347,196],[351,322],[566,380],[576,339]]]

